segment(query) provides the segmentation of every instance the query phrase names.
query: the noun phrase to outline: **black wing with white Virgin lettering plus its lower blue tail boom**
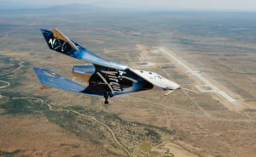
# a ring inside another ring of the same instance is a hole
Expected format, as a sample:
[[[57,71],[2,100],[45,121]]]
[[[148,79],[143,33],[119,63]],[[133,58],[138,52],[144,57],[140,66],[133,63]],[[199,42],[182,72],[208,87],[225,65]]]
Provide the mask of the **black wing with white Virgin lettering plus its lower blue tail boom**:
[[[152,89],[153,85],[137,76],[130,70],[123,71],[120,79],[115,69],[100,67],[96,65],[96,72],[90,76],[89,85],[84,87],[79,83],[68,80],[53,71],[34,68],[41,83],[41,89],[57,88],[71,93],[80,93],[92,96],[104,96],[110,91],[110,96],[125,93],[139,92]]]

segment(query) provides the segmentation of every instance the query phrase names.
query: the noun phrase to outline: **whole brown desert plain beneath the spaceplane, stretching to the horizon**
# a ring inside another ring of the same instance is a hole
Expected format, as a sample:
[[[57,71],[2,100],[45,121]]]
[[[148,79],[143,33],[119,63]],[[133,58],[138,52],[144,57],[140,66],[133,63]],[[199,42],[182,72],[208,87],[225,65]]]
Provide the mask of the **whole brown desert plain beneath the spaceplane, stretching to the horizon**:
[[[0,156],[255,156],[256,14],[66,9],[0,14]],[[33,67],[73,79],[90,64],[50,51],[40,28],[183,89],[108,105],[40,90]]]

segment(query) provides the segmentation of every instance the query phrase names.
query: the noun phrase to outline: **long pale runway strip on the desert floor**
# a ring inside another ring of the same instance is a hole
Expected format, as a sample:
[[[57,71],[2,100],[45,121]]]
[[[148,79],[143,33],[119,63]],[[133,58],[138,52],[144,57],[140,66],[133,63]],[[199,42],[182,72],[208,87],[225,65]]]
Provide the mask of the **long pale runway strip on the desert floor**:
[[[171,53],[166,52],[166,50],[164,48],[158,48],[158,50],[162,53],[165,53],[169,57],[171,57],[173,60],[175,60],[177,62],[177,64],[180,64],[181,66],[183,66],[183,68],[185,70],[187,70],[191,75],[196,76],[199,80],[204,82],[208,87],[211,87],[212,88],[212,93],[218,93],[220,96],[222,96],[223,98],[228,100],[234,106],[241,105],[240,102],[238,102],[234,98],[230,97],[229,94],[224,93],[224,91],[222,91],[221,89],[219,89],[218,87],[213,85],[211,81],[208,81],[205,77],[201,76],[201,73],[199,71],[192,70],[188,65],[184,64],[182,61],[177,59],[174,55],[172,55]]]

